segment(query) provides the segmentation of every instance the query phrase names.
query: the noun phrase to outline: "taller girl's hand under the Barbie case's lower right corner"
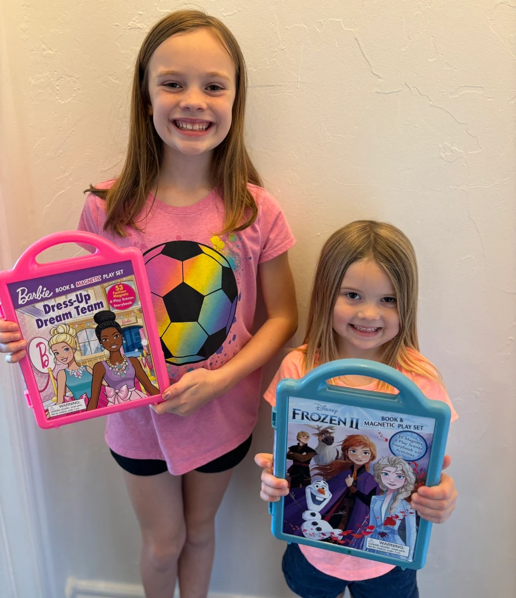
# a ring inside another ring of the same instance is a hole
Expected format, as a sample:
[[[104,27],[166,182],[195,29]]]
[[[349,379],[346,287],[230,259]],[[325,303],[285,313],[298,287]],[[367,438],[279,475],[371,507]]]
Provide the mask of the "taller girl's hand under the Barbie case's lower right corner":
[[[163,392],[162,403],[151,405],[158,414],[175,413],[182,417],[197,411],[227,390],[227,380],[220,370],[199,368],[187,372]]]

